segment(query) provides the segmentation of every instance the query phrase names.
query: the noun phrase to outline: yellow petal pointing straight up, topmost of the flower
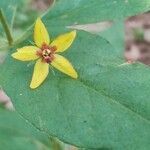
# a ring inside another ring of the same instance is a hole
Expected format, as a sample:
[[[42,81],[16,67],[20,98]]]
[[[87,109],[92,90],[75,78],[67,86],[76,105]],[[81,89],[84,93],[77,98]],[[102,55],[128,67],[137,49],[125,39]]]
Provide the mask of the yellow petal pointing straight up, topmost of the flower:
[[[45,25],[43,24],[43,22],[40,18],[38,18],[35,23],[34,42],[40,48],[42,47],[42,45],[44,43],[47,45],[49,45],[49,43],[50,43],[49,34],[46,30]]]

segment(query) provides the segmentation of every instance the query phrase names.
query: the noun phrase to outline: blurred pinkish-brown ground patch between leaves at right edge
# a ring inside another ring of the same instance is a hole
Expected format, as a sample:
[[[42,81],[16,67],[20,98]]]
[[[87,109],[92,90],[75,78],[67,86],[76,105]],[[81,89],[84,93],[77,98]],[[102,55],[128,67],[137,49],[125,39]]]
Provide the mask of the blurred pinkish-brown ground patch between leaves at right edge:
[[[150,12],[125,22],[125,57],[150,65]]]

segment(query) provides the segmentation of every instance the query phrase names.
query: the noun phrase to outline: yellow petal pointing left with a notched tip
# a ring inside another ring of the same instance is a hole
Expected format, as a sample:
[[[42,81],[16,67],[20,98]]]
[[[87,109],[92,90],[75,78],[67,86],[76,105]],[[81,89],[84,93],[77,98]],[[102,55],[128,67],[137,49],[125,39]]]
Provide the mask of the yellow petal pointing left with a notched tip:
[[[39,48],[35,46],[25,46],[23,48],[17,49],[17,52],[12,54],[12,57],[21,61],[30,61],[39,58],[36,52]]]

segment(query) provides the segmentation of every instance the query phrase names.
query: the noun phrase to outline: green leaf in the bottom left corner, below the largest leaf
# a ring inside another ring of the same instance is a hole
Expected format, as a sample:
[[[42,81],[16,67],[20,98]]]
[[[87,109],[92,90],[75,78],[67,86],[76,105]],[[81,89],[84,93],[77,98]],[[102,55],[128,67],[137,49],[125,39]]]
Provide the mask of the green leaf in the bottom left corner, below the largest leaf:
[[[49,150],[50,139],[16,112],[0,108],[0,149]]]

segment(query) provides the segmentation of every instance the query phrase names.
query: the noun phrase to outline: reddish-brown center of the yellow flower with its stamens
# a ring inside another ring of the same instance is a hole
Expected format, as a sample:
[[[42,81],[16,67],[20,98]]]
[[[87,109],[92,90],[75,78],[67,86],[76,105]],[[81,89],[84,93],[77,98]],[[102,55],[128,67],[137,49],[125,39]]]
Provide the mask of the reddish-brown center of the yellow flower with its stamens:
[[[54,59],[54,54],[56,50],[56,46],[49,46],[43,44],[42,48],[37,51],[37,55],[40,56],[44,62],[51,63]]]

